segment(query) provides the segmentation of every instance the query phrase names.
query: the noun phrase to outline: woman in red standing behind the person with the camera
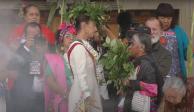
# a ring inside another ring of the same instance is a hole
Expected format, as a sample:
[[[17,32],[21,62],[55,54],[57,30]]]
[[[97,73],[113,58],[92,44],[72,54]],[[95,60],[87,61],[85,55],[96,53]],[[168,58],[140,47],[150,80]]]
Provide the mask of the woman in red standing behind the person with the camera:
[[[24,22],[15,27],[11,32],[10,37],[8,38],[8,43],[11,43],[10,47],[14,50],[17,49],[17,47],[20,45],[21,39],[23,38],[25,25],[30,22],[36,22],[40,24],[40,9],[38,6],[34,4],[28,4],[22,9],[22,14]],[[49,45],[54,46],[54,33],[46,25],[40,24],[40,26],[43,37],[48,41]]]

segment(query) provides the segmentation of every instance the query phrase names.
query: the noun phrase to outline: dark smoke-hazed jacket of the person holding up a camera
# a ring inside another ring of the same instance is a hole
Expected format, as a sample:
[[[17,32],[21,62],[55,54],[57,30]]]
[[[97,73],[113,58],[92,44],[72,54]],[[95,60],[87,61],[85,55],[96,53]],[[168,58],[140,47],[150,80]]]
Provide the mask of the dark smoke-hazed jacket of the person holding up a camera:
[[[30,74],[32,64],[32,53],[28,52],[24,46],[20,46],[15,56],[8,65],[9,70],[16,71],[17,77],[14,86],[10,91],[10,101],[8,102],[9,112],[43,112],[43,96],[37,96],[33,91],[34,75]]]

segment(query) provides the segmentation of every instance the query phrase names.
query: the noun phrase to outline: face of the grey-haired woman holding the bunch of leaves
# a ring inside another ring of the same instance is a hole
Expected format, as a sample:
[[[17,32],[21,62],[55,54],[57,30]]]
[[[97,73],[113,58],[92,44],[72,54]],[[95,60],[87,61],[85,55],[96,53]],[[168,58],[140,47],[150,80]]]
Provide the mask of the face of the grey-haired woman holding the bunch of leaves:
[[[137,35],[133,35],[128,50],[135,57],[137,57],[138,54],[143,51],[143,45],[140,43],[139,37]]]

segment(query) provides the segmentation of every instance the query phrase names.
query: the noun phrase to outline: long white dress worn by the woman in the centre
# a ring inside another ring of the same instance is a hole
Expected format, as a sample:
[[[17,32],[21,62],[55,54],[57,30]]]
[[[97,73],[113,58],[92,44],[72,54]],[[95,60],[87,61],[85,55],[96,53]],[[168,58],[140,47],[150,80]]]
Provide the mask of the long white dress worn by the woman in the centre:
[[[75,43],[80,42],[73,42],[69,48]],[[69,60],[74,75],[69,94],[69,112],[79,112],[77,110],[80,108],[80,101],[85,100],[89,96],[95,102],[92,102],[93,106],[89,105],[88,112],[102,112],[99,88],[95,75],[95,63],[89,51],[81,44],[76,45],[71,51]]]

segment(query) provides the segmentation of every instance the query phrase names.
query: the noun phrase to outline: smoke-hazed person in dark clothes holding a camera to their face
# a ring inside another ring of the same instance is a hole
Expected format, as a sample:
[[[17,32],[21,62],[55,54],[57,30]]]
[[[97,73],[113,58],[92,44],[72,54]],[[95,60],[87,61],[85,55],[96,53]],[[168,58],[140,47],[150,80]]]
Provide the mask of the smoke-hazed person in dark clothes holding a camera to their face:
[[[8,64],[15,76],[10,90],[8,112],[43,112],[43,57],[47,44],[41,35],[39,24],[28,23],[25,27],[25,42],[17,49]],[[14,77],[13,76],[13,77]]]

